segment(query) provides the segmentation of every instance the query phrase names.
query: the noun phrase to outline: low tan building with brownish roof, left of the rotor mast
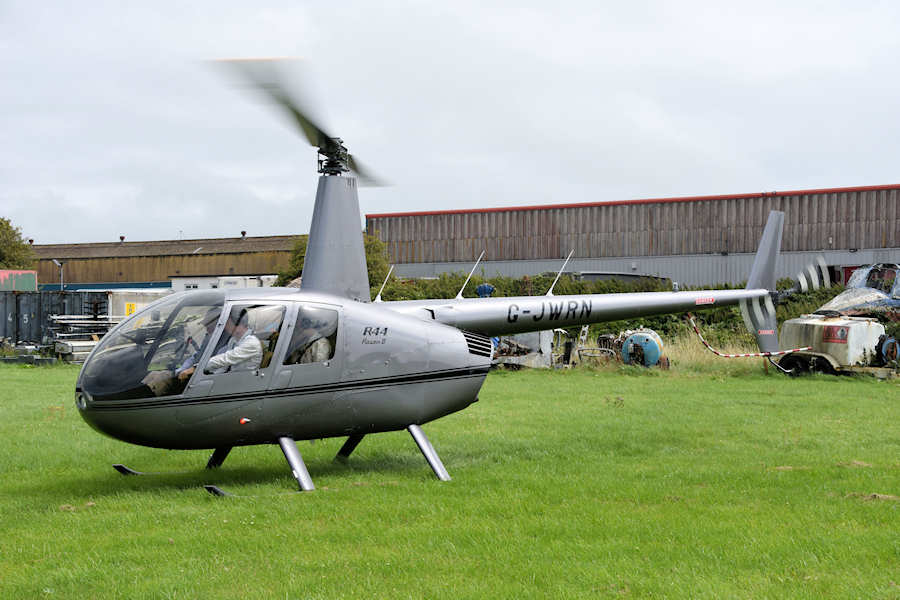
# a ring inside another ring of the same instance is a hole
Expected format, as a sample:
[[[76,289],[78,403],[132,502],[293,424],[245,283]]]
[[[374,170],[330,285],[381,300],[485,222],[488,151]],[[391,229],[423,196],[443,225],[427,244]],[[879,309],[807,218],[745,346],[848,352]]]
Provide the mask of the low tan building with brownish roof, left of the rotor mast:
[[[41,289],[174,287],[191,289],[255,278],[260,285],[287,266],[296,236],[35,244]],[[266,279],[263,279],[266,277]],[[211,283],[212,282],[212,283]],[[239,287],[244,287],[243,285]]]

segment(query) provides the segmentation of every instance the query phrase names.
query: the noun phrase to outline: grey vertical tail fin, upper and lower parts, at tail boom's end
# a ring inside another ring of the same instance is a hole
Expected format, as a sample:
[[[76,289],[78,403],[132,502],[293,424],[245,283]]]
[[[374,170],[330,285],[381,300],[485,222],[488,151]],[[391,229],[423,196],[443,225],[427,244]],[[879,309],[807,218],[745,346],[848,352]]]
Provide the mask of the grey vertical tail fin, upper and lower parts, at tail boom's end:
[[[759,240],[759,249],[747,278],[747,289],[775,290],[775,267],[781,250],[781,232],[784,229],[784,213],[773,210],[769,213],[766,228]],[[778,350],[778,322],[775,319],[775,304],[769,295],[751,300],[741,300],[741,315],[744,324],[756,337],[756,343],[763,352]]]

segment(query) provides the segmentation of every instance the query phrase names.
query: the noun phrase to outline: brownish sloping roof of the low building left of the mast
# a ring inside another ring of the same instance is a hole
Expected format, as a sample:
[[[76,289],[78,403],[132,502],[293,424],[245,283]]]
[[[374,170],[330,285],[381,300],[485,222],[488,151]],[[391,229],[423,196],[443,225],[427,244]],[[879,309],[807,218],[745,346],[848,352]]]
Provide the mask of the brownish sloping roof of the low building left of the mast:
[[[299,236],[161,240],[151,242],[99,242],[90,244],[35,244],[38,259],[121,258],[133,256],[181,256],[190,254],[244,254],[290,252]]]

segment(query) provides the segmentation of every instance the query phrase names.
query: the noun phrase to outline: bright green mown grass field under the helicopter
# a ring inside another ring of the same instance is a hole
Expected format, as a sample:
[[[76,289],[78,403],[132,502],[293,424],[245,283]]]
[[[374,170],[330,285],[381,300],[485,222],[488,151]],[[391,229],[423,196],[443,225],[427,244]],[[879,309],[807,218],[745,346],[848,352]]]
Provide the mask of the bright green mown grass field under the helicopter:
[[[399,432],[289,494],[277,446],[95,433],[76,374],[0,366],[0,598],[900,598],[896,380],[492,373],[424,427],[453,481]]]

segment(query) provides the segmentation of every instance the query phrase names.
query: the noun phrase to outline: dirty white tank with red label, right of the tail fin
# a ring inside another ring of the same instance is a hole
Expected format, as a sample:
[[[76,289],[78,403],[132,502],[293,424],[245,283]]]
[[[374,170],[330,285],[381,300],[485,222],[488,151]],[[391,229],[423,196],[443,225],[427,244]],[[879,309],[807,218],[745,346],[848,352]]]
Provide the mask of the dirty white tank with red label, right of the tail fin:
[[[812,346],[812,352],[828,354],[841,366],[866,366],[882,335],[884,325],[876,319],[803,315],[784,322],[781,348]]]

